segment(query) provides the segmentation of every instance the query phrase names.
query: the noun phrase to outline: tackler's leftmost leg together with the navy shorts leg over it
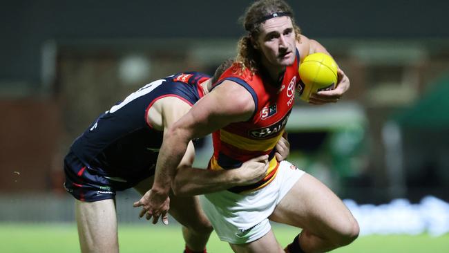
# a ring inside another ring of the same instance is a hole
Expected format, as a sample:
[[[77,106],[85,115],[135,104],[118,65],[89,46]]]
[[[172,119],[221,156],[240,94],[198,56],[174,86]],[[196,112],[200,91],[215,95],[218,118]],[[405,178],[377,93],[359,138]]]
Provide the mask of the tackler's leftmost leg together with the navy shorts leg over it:
[[[111,182],[90,171],[72,152],[64,159],[64,173],[64,187],[75,197],[82,252],[118,252],[115,189]]]

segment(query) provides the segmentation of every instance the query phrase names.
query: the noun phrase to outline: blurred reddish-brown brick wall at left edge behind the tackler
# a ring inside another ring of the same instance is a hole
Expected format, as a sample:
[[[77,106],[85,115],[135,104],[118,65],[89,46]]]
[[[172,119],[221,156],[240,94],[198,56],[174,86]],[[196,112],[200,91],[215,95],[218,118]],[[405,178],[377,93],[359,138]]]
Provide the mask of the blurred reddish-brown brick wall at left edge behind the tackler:
[[[61,160],[59,106],[51,99],[0,101],[0,191],[52,188]],[[57,162],[59,163],[59,162]]]

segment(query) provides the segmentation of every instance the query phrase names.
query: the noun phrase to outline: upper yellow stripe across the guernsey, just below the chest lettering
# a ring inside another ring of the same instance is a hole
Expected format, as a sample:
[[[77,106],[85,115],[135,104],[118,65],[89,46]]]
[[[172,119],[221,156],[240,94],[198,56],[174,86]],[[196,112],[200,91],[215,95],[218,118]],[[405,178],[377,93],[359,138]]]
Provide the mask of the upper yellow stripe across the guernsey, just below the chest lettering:
[[[220,130],[220,140],[222,142],[226,142],[227,144],[231,144],[234,147],[242,150],[248,151],[269,151],[274,149],[276,143],[282,136],[282,131],[276,135],[274,138],[269,138],[265,140],[252,140],[249,138],[245,138],[240,135],[236,135],[234,133],[230,133],[223,129]]]

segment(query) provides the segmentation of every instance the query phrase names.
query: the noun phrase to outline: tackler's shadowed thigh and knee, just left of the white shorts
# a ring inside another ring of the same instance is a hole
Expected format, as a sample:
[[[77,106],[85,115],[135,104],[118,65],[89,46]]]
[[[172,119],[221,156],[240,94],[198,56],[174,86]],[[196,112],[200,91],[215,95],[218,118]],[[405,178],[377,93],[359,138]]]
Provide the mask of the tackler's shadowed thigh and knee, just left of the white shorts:
[[[179,223],[199,233],[212,232],[212,225],[201,209],[198,196],[178,197],[171,194],[169,214]]]

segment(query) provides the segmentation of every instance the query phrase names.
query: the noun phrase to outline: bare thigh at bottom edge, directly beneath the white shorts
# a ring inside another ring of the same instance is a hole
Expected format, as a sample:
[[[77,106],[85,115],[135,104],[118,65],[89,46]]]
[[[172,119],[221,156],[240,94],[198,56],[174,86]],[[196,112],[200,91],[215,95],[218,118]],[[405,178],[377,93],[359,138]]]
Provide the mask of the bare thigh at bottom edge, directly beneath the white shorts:
[[[232,244],[231,248],[236,253],[276,253],[276,252],[284,252],[283,248],[280,247],[278,241],[276,241],[276,237],[274,237],[273,232],[270,231],[258,238],[256,241],[252,241],[251,243],[244,244]]]

